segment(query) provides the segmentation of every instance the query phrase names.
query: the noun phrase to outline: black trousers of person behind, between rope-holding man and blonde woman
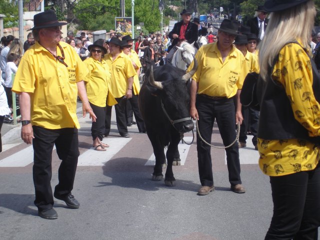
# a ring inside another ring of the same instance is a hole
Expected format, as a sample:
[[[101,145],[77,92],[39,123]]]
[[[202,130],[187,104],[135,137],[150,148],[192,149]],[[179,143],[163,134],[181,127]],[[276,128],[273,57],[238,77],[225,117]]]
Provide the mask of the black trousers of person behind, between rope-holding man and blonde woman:
[[[246,134],[247,131],[250,130],[253,135],[252,143],[253,145],[256,145],[258,143],[256,134],[259,121],[259,111],[253,109],[252,107],[242,106],[241,112],[243,116],[243,121],[240,126],[239,141],[246,143]]]

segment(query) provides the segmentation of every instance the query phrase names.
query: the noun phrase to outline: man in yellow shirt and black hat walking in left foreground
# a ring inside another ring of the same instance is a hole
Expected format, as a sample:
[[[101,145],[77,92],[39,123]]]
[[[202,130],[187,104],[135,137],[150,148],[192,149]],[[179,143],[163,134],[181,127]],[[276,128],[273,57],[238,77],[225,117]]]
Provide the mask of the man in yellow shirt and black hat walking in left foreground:
[[[12,86],[20,99],[21,138],[27,144],[33,143],[34,204],[38,215],[45,219],[57,218],[53,195],[70,208],[79,207],[71,194],[79,156],[77,94],[82,100],[83,117],[88,112],[92,121],[96,118],[82,80],[88,71],[73,47],[60,42],[60,27],[65,24],[52,10],[34,15],[31,29],[35,44],[21,58]],[[52,195],[53,145],[61,164]]]

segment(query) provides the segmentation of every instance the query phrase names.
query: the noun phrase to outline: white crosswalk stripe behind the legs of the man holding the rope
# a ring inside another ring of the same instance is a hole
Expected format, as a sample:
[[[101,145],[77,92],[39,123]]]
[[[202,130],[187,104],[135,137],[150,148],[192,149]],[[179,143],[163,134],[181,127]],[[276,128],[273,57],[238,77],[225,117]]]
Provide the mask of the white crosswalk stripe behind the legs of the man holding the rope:
[[[258,164],[259,152],[254,150],[252,144],[252,135],[247,135],[246,147],[239,148],[240,164]],[[224,156],[224,164],[226,164],[226,155]]]

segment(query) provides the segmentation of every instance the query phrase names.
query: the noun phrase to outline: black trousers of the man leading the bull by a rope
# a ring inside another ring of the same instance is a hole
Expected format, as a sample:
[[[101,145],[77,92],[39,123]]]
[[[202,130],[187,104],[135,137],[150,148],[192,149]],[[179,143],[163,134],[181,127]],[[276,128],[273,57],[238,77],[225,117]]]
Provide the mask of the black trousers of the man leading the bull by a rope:
[[[229,145],[235,139],[235,109],[232,98],[213,100],[197,95],[195,106],[199,115],[199,132],[206,142],[211,142],[214,119],[216,119],[225,146]],[[198,135],[196,139],[201,185],[212,186],[211,147],[205,144]],[[225,152],[229,182],[231,185],[241,184],[238,145],[233,144],[232,146],[225,148]]]

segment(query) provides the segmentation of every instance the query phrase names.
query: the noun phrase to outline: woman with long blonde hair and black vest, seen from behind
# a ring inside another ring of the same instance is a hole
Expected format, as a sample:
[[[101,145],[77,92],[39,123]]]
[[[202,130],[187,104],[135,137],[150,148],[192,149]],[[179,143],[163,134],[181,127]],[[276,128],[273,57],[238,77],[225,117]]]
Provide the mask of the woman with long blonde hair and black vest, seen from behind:
[[[259,44],[259,166],[269,175],[273,216],[264,239],[318,239],[320,75],[311,59],[313,0],[266,0]]]

